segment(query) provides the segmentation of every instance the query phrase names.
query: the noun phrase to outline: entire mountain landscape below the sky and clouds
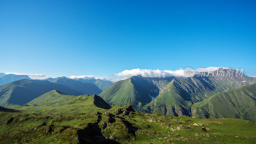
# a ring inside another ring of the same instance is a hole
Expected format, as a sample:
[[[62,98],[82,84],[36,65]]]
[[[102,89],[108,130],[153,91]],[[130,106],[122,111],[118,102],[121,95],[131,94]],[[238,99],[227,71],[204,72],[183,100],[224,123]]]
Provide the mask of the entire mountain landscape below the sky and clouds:
[[[116,83],[0,73],[0,143],[255,143],[256,78],[219,70]]]

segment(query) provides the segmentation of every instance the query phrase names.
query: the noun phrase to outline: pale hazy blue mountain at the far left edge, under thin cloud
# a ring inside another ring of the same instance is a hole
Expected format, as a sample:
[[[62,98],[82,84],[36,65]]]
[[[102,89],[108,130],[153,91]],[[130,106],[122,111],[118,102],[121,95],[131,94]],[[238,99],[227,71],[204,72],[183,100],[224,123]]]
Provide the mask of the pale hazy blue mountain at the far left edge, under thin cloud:
[[[0,85],[4,85],[4,84],[7,84],[7,83],[10,83],[13,81],[17,81],[17,80],[20,80],[23,78],[31,79],[27,75],[13,75],[13,74],[5,75],[0,78]]]

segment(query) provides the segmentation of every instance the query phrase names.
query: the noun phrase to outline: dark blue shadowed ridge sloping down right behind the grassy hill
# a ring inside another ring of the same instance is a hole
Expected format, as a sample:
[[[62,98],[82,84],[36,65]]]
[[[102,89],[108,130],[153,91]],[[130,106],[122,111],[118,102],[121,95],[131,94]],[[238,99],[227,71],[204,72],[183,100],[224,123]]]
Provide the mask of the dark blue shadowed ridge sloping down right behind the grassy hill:
[[[74,89],[83,94],[99,94],[102,92],[95,84],[83,83],[81,81],[76,81],[73,79],[67,79],[66,77],[60,77],[52,81],[52,83],[66,85],[71,89]]]

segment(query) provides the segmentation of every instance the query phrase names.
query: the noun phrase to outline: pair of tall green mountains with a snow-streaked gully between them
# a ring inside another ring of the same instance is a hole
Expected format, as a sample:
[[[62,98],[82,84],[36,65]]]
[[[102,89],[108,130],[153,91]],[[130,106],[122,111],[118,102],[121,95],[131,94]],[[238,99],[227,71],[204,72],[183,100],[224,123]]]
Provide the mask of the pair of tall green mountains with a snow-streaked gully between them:
[[[248,86],[256,82],[255,77],[226,76],[228,69],[220,68],[223,76],[206,73],[205,76],[188,78],[146,78],[132,76],[126,80],[116,82],[100,93],[100,96],[110,106],[132,106],[141,112],[159,112],[166,116],[192,116],[191,106],[212,95],[239,87]],[[235,75],[235,70],[231,70]],[[155,98],[154,100],[152,100]]]

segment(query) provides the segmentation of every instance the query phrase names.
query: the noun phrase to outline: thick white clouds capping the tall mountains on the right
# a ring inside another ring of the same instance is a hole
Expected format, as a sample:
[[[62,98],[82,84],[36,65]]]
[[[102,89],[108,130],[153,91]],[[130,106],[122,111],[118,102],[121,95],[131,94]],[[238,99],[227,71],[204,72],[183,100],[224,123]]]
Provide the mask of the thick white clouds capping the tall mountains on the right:
[[[205,71],[208,72],[208,69],[210,71],[215,71],[219,68],[225,68],[225,67],[208,67],[208,68],[197,68],[195,71]],[[179,76],[179,77],[186,77],[184,73],[184,69],[180,68],[177,70],[152,70],[152,69],[140,69],[135,68],[131,70],[124,70],[120,73],[116,73],[113,76],[123,77],[124,79],[129,78],[131,76],[138,76],[141,75],[143,77],[168,77],[168,76]]]

